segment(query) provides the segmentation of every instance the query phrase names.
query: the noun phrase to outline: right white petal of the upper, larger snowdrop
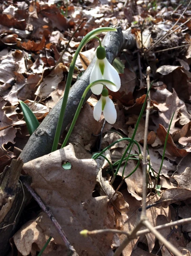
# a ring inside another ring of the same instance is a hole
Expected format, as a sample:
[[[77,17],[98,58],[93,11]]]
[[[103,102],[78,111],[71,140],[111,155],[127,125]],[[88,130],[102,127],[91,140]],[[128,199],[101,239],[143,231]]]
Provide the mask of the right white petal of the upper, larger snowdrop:
[[[121,80],[117,70],[109,63],[109,61],[106,58],[104,59],[104,64],[105,64],[105,68],[103,73],[103,79],[111,81],[116,86],[108,83],[105,83],[105,85],[111,91],[118,91],[119,88],[121,87]]]

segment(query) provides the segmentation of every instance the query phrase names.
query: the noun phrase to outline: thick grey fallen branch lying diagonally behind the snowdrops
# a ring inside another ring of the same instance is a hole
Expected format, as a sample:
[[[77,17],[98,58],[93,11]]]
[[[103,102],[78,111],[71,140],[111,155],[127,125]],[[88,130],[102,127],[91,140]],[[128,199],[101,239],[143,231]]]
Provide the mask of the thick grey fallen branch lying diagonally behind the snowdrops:
[[[123,48],[132,48],[134,44],[135,40],[133,35],[130,33],[122,33],[121,28],[118,28],[118,32],[108,32],[103,40],[103,45],[106,48],[107,59],[110,63]],[[89,77],[94,63],[95,58],[92,60],[91,64],[81,76],[81,78],[77,80],[76,83],[71,87],[66,113],[64,116],[62,132],[64,132],[64,130],[72,120],[82,97],[82,94],[84,93],[86,87],[89,85]],[[91,91],[89,91],[89,93],[87,94],[86,100],[90,96]],[[20,157],[22,158],[24,163],[37,157],[49,154],[51,152],[61,104],[62,99],[45,117],[43,122],[32,134],[28,143],[23,148]]]

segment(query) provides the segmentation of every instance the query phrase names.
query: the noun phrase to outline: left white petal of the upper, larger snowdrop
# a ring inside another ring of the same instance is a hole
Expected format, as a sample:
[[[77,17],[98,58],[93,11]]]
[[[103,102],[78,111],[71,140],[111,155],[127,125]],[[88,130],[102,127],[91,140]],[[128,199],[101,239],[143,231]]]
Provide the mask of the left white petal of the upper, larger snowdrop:
[[[99,60],[97,59],[95,61],[95,65],[92,68],[91,74],[90,74],[90,79],[89,83],[93,83],[97,80],[102,80],[103,75],[101,73],[100,67],[99,67]],[[91,91],[93,94],[99,95],[102,93],[103,90],[103,85],[102,84],[97,84],[91,87]]]

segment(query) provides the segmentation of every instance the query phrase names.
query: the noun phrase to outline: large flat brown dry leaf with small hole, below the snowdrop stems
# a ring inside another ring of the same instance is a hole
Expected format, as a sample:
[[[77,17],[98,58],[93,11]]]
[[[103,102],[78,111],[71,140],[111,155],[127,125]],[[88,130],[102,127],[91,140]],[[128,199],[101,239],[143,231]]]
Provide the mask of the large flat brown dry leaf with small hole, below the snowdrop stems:
[[[63,162],[71,164],[70,170],[63,169]],[[112,255],[112,235],[82,237],[83,229],[114,228],[114,213],[108,208],[108,197],[92,197],[97,175],[97,164],[93,159],[79,160],[71,144],[25,163],[23,170],[32,177],[32,187],[50,208],[67,238],[77,253],[88,255]],[[108,217],[107,210],[110,211]],[[63,244],[52,222],[42,214],[40,226],[47,230],[55,242]],[[20,230],[21,232],[21,230]]]

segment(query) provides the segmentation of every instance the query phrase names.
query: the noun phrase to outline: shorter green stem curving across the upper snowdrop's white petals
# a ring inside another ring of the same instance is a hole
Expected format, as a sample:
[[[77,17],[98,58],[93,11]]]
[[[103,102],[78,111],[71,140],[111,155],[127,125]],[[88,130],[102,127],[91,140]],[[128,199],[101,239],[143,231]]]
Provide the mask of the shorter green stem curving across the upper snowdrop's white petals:
[[[71,126],[70,126],[70,129],[69,129],[69,131],[68,131],[68,133],[67,133],[67,135],[66,135],[66,138],[65,138],[65,140],[64,140],[64,142],[63,142],[61,148],[63,148],[63,147],[66,146],[66,144],[67,144],[67,142],[68,142],[68,139],[70,138],[70,135],[71,135],[71,133],[72,133],[72,130],[73,130],[73,128],[74,128],[74,125],[75,125],[75,123],[76,123],[76,120],[77,120],[77,118],[78,118],[78,116],[79,116],[79,114],[80,114],[80,110],[81,110],[81,108],[82,108],[82,105],[83,105],[83,103],[84,103],[84,100],[85,100],[85,98],[86,98],[86,95],[87,95],[89,89],[90,89],[92,86],[94,86],[94,85],[96,85],[96,84],[100,84],[100,83],[110,83],[110,84],[112,84],[112,85],[115,85],[114,83],[112,83],[112,82],[110,82],[110,81],[108,81],[108,80],[98,80],[98,81],[95,81],[95,82],[93,82],[93,83],[91,83],[91,84],[88,85],[88,87],[85,89],[85,91],[84,91],[84,93],[83,93],[83,95],[82,95],[82,98],[81,98],[81,100],[80,100],[80,103],[79,103],[79,105],[78,105],[78,107],[77,107],[77,110],[76,110],[76,112],[75,112],[75,115],[74,115],[72,124],[71,124]]]

